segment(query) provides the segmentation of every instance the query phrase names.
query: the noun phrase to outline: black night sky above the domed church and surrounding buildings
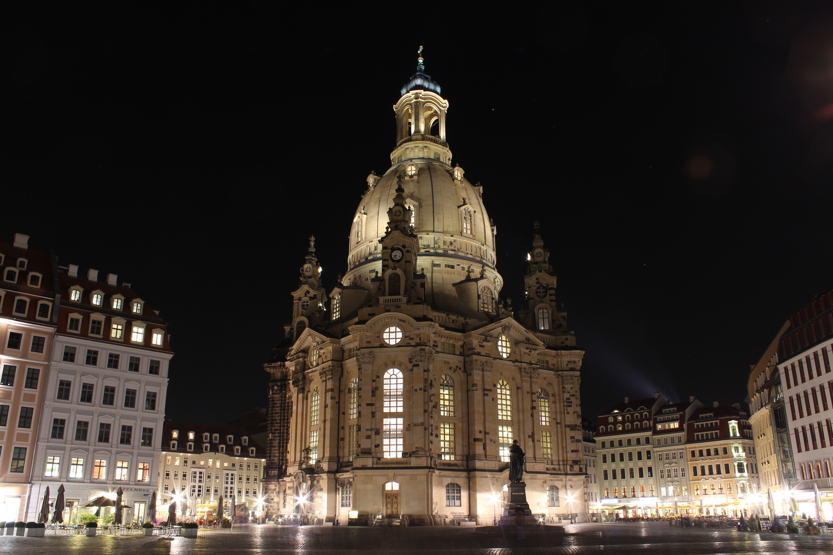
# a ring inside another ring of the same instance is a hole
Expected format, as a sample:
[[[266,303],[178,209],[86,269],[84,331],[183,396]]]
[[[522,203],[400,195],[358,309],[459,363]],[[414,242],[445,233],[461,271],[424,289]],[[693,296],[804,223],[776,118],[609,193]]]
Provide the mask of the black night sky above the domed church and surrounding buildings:
[[[167,415],[224,424],[265,402],[307,236],[328,291],[346,270],[424,45],[516,305],[542,222],[583,413],[736,402],[833,287],[833,14],[668,3],[7,14],[0,235],[132,283],[170,322]]]

